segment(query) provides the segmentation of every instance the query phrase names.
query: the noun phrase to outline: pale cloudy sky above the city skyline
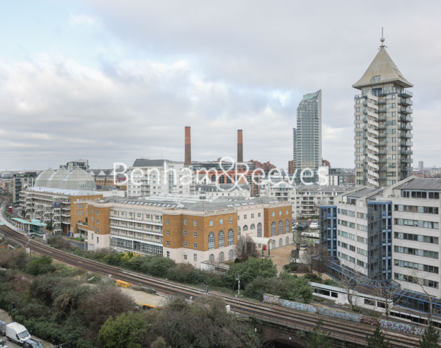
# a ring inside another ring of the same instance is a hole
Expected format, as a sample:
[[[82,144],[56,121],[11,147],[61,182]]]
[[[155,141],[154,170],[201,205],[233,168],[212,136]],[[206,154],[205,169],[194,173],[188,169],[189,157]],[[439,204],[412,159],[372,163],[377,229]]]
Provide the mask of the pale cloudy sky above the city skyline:
[[[0,3],[0,171],[137,157],[286,167],[305,93],[323,158],[353,167],[353,97],[380,45],[415,85],[414,165],[441,165],[440,1]]]

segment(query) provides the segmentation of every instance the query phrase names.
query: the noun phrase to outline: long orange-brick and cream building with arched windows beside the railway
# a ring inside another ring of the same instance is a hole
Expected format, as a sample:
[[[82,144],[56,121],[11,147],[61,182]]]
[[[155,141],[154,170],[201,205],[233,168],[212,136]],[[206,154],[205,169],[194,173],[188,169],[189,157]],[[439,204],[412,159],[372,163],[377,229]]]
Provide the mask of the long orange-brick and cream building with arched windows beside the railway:
[[[235,244],[245,235],[251,235],[260,249],[264,244],[272,249],[293,242],[291,205],[266,197],[160,193],[105,198],[88,209],[88,216],[93,216],[88,219],[89,248],[159,254],[194,267],[232,260]],[[108,223],[103,216],[109,216]]]

